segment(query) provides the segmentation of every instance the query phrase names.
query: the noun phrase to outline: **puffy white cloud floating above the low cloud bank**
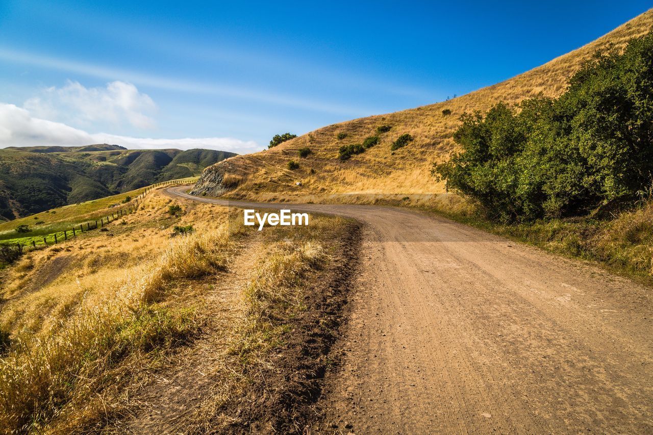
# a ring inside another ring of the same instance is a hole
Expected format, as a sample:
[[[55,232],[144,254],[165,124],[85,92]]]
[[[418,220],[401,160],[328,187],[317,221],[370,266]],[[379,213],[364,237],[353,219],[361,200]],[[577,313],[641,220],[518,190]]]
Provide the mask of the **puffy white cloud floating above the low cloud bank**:
[[[152,99],[131,83],[116,81],[104,88],[86,88],[70,80],[63,88],[42,89],[40,95],[25,101],[24,107],[37,118],[83,126],[129,123],[140,129],[155,126],[149,114],[157,109]]]

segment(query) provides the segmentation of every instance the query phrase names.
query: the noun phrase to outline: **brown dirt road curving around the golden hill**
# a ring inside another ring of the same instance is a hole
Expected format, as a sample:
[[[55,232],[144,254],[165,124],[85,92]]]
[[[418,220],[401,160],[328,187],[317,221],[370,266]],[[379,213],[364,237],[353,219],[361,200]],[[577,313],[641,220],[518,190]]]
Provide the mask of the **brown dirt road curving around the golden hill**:
[[[168,192],[227,204],[185,189]],[[650,289],[419,212],[229,204],[366,224],[342,365],[322,399],[334,430],[653,431]]]

